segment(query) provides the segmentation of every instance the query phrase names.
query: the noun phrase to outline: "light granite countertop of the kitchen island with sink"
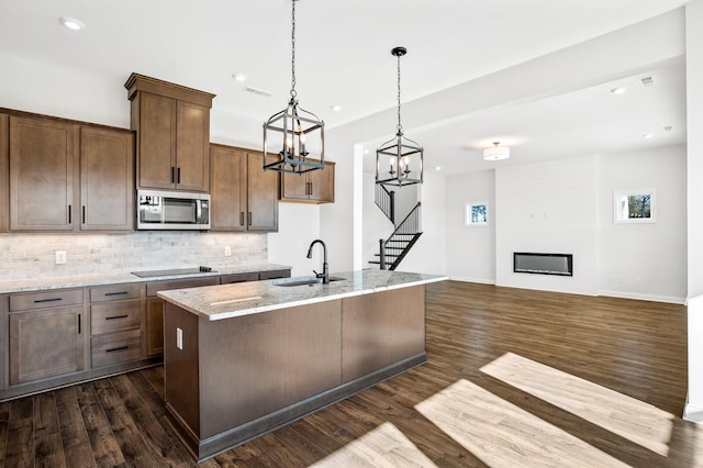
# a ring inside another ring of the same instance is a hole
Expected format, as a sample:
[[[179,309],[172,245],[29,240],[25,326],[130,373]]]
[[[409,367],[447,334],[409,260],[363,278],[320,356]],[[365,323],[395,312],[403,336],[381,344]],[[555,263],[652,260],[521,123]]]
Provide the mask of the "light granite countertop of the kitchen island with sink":
[[[387,270],[334,274],[331,278],[335,278],[336,281],[331,281],[330,285],[277,286],[314,279],[297,277],[175,289],[160,291],[158,296],[189,312],[214,321],[448,279],[446,276]]]

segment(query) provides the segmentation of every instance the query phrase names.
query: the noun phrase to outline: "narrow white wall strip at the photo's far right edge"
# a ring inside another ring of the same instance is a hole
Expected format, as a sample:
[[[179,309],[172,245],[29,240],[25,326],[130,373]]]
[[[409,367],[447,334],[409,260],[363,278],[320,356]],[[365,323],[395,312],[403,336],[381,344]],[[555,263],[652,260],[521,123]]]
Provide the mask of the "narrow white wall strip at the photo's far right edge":
[[[690,299],[689,401],[685,417],[703,423],[703,0],[687,3],[685,34]]]

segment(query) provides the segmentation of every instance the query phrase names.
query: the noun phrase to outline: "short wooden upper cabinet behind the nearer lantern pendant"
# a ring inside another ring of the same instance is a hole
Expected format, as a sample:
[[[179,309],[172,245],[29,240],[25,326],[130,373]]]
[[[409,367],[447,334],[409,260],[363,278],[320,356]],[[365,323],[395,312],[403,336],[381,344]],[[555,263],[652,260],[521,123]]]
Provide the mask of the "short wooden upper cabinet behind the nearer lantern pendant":
[[[325,161],[322,170],[282,174],[280,199],[300,203],[334,203],[334,166]]]

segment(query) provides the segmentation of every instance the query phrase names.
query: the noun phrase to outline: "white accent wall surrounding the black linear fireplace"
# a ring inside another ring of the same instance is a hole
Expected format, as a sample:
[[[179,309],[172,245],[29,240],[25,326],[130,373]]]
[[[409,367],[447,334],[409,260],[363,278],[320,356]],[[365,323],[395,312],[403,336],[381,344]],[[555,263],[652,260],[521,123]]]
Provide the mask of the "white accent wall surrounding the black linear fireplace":
[[[596,159],[495,169],[495,283],[598,293]],[[573,276],[513,271],[514,252],[572,254]]]

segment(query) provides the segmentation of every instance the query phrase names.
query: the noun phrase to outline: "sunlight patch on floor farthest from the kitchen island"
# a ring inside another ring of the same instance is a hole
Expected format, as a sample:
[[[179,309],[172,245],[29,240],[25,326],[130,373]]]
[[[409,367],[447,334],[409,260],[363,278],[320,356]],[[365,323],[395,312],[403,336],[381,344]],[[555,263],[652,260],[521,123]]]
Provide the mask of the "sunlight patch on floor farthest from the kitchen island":
[[[506,353],[481,371],[659,455],[669,455],[673,415],[580,377]]]

